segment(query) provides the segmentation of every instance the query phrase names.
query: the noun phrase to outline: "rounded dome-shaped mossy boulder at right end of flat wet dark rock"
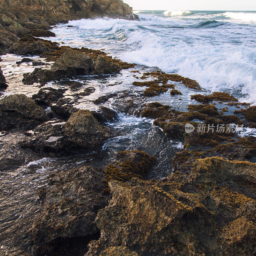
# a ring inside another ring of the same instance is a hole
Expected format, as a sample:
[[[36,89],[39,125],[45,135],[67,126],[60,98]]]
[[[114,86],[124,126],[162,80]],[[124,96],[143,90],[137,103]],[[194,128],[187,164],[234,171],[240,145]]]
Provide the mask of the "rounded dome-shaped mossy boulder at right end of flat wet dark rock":
[[[110,131],[99,124],[89,110],[78,110],[72,114],[64,127],[68,140],[80,147],[96,148],[110,138]]]

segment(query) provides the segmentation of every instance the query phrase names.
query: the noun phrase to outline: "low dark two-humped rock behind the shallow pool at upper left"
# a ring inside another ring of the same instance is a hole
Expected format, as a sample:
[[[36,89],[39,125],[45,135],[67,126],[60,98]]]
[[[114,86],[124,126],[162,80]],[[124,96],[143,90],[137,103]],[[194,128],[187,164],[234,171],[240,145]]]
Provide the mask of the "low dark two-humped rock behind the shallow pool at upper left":
[[[51,51],[50,48],[45,46],[42,41],[36,41],[32,44],[19,42],[14,43],[9,49],[10,53],[18,54],[18,55],[40,55],[44,52]]]

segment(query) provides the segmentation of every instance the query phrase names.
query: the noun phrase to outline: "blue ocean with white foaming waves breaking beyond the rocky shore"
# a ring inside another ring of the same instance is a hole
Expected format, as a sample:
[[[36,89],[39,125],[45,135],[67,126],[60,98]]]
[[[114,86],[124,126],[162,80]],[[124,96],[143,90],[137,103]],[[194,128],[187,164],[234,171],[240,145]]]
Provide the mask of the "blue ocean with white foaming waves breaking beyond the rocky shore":
[[[140,21],[73,20],[50,40],[195,79],[256,104],[256,12],[134,11]]]

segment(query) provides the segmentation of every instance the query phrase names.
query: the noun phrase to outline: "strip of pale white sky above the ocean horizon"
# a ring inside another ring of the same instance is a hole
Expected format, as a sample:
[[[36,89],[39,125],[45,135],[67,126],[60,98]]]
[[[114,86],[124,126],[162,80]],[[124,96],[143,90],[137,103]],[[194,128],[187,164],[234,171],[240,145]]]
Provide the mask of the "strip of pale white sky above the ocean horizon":
[[[123,0],[133,10],[256,11],[256,0]]]

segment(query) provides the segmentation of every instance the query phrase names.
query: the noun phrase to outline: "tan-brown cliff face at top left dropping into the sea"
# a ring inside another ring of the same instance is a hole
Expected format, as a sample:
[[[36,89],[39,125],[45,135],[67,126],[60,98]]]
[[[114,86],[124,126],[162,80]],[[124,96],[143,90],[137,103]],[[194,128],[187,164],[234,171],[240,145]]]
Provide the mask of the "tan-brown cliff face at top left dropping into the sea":
[[[44,17],[50,24],[97,16],[137,18],[121,0],[0,0],[0,4],[0,12],[7,16],[12,13],[18,19],[31,21]]]

